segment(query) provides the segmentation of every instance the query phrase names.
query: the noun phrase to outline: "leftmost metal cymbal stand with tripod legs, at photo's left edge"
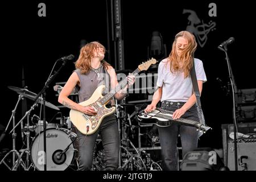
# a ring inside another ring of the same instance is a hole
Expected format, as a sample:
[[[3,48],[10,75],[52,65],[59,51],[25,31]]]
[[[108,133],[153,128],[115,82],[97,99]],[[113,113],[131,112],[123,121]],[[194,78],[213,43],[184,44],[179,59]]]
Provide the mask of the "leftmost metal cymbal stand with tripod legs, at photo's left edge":
[[[7,131],[8,127],[9,127],[9,125],[10,125],[11,120],[13,119],[13,130],[10,131],[10,133],[13,132],[13,134],[12,134],[12,137],[13,137],[13,150],[9,151],[9,152],[3,157],[3,159],[2,159],[1,162],[0,162],[0,165],[1,165],[2,163],[4,163],[5,166],[6,166],[8,169],[10,169],[11,171],[15,171],[15,170],[18,168],[19,165],[21,165],[21,166],[24,168],[24,170],[27,171],[26,165],[24,164],[24,162],[23,162],[23,160],[22,160],[22,158],[21,158],[21,156],[23,155],[23,153],[24,153],[25,151],[22,151],[22,153],[19,154],[19,152],[16,150],[16,133],[15,133],[15,127],[18,126],[18,125],[15,126],[15,113],[16,113],[17,106],[18,106],[20,100],[22,99],[22,97],[23,97],[23,96],[22,96],[21,94],[19,94],[19,98],[18,98],[18,101],[17,101],[17,103],[16,103],[16,105],[15,105],[14,110],[12,111],[11,118],[10,118],[10,120],[9,120],[7,126],[6,126],[6,129],[5,129],[5,131],[3,132],[3,135],[1,136],[1,139],[0,139],[0,142],[1,142],[1,140],[3,139],[3,137],[5,137],[6,131]],[[10,167],[5,163],[5,159],[6,159],[7,156],[9,156],[9,154],[11,154],[11,153],[13,153],[13,167],[10,168]],[[17,158],[16,161],[15,161],[15,158]]]

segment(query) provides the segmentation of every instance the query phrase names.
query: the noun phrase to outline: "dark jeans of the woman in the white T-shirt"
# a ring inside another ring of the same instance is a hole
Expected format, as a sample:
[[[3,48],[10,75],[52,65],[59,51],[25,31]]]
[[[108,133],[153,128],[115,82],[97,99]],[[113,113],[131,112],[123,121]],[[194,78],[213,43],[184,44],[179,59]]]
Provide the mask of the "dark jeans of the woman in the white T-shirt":
[[[164,110],[175,111],[185,104],[185,102],[163,101],[161,108]],[[199,122],[196,105],[187,110],[181,118],[191,119]],[[162,164],[166,171],[176,171],[177,169],[177,137],[180,134],[183,157],[188,151],[197,148],[198,134],[195,127],[178,125],[173,123],[168,127],[158,127],[161,145]]]

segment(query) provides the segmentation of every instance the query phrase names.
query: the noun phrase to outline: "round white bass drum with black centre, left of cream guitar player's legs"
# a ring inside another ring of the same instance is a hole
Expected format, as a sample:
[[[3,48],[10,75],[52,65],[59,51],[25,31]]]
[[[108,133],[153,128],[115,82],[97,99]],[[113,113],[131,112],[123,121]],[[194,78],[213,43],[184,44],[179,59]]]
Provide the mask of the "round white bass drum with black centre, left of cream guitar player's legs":
[[[39,171],[44,171],[43,136],[42,131],[36,135],[31,143],[31,160]],[[75,139],[76,134],[67,129],[46,129],[47,171],[64,171],[72,164],[75,156],[73,144]],[[68,150],[63,152],[66,148]]]

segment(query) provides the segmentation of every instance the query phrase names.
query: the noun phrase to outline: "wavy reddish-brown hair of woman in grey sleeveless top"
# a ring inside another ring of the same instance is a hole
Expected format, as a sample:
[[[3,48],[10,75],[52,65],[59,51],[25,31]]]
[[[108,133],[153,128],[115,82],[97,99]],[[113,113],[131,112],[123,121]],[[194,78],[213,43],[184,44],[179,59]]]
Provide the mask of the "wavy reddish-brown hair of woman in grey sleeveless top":
[[[86,74],[90,71],[90,61],[94,57],[94,50],[98,47],[103,48],[104,53],[106,52],[106,48],[99,42],[90,42],[80,49],[79,59],[75,62],[75,67],[76,69],[80,69],[82,74]],[[102,60],[101,64],[106,69],[110,66],[105,60]]]

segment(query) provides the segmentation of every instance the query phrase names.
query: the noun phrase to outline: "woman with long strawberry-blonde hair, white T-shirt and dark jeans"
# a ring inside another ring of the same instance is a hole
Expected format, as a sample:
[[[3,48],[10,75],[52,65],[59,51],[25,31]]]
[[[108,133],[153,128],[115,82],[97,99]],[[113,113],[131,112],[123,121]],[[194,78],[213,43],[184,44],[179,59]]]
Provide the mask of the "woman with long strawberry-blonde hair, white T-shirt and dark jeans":
[[[196,96],[190,76],[195,63],[197,83],[200,93],[203,82],[207,81],[203,62],[194,58],[197,43],[195,36],[188,31],[179,32],[172,44],[170,55],[159,63],[158,90],[153,100],[145,109],[150,112],[161,101],[161,108],[174,111],[173,118],[186,118],[199,122],[196,108]],[[183,156],[197,148],[198,131],[195,127],[177,125],[158,127],[160,145],[162,147],[162,164],[164,170],[177,170],[177,137],[180,134]]]

